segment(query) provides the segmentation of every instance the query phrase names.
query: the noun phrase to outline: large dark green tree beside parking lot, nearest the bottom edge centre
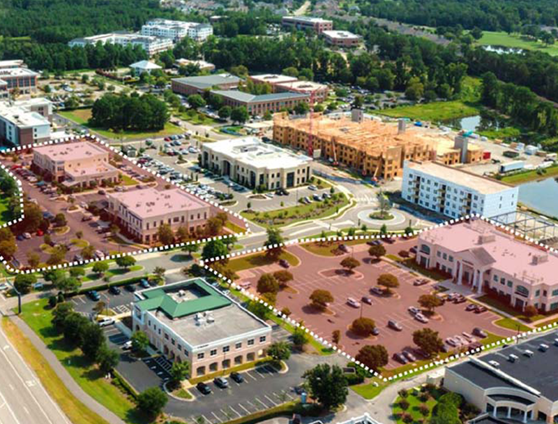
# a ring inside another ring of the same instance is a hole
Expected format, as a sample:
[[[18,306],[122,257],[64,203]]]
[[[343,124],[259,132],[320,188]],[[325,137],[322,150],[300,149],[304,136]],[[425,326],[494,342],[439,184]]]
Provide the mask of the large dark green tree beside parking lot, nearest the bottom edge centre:
[[[347,400],[349,393],[347,379],[342,369],[337,365],[316,365],[311,370],[306,371],[303,378],[306,379],[310,395],[324,409],[336,409]]]

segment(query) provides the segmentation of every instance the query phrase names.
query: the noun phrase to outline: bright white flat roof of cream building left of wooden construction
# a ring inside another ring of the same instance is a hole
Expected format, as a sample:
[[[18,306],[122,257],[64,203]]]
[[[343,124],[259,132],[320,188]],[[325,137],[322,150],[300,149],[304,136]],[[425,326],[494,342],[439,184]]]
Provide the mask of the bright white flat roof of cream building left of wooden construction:
[[[309,163],[312,159],[295,154],[287,149],[269,145],[257,137],[232,138],[204,144],[211,152],[232,156],[238,161],[268,169],[294,168]]]

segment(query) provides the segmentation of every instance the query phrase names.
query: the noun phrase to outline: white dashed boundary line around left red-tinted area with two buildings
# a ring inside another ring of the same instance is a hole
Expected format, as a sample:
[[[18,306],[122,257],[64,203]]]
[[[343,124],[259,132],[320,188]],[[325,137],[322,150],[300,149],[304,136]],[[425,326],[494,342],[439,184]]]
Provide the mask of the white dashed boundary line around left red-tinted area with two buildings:
[[[59,265],[48,265],[48,266],[45,266],[45,267],[42,267],[42,268],[32,268],[32,269],[29,269],[29,270],[20,270],[20,269],[17,269],[17,268],[13,268],[12,265],[10,265],[10,263],[8,263],[8,261],[6,261],[6,259],[3,258],[3,256],[0,255],[0,260],[2,261],[3,265],[6,266],[6,269],[9,272],[15,272],[17,274],[29,274],[31,272],[40,272],[40,271],[44,271],[44,270],[54,270],[54,269],[59,269],[59,268],[68,268],[68,267],[72,267],[72,266],[75,266],[75,265],[86,265],[86,264],[92,263],[92,262],[108,261],[108,260],[111,260],[111,259],[121,258],[122,256],[135,256],[135,255],[140,255],[140,254],[154,253],[154,252],[157,252],[157,251],[166,251],[166,250],[169,250],[169,249],[176,249],[176,248],[179,248],[179,247],[184,247],[184,246],[187,246],[188,244],[200,244],[200,243],[209,242],[210,240],[223,240],[223,239],[227,239],[229,237],[232,237],[233,235],[234,236],[241,236],[241,235],[246,235],[246,234],[250,233],[250,227],[248,226],[248,221],[246,220],[246,218],[242,217],[240,214],[237,214],[236,212],[232,212],[231,210],[228,210],[226,207],[223,207],[222,205],[219,205],[218,203],[213,202],[212,200],[202,198],[202,196],[198,196],[193,191],[190,191],[190,189],[186,189],[185,187],[179,187],[177,184],[174,184],[174,182],[172,182],[172,180],[170,180],[168,177],[165,177],[163,175],[160,175],[159,173],[154,172],[153,170],[149,169],[148,167],[143,166],[141,163],[137,163],[137,159],[126,156],[126,154],[123,154],[119,149],[116,149],[115,147],[112,147],[110,144],[108,144],[104,140],[100,140],[100,138],[98,138],[97,136],[93,136],[91,134],[84,134],[83,136],[69,136],[69,137],[58,138],[56,140],[50,140],[50,141],[46,141],[46,142],[33,143],[31,145],[11,147],[10,149],[3,150],[2,153],[3,154],[10,154],[10,153],[13,153],[13,152],[25,151],[29,148],[32,149],[33,147],[53,145],[53,144],[58,144],[58,143],[63,143],[63,142],[77,142],[77,141],[80,141],[80,140],[98,142],[99,144],[103,145],[104,147],[109,149],[114,154],[118,154],[119,156],[122,156],[123,159],[125,159],[127,161],[130,161],[131,163],[133,163],[138,168],[151,173],[151,175],[153,175],[154,177],[165,180],[165,182],[167,182],[168,184],[172,184],[172,186],[176,187],[177,189],[181,189],[183,191],[186,191],[191,196],[195,196],[195,197],[199,198],[204,203],[209,203],[209,205],[212,205],[214,207],[218,207],[220,210],[223,210],[223,212],[225,212],[227,214],[231,214],[232,216],[234,216],[238,219],[241,219],[243,221],[243,224],[246,226],[246,231],[244,231],[242,233],[234,233],[232,235],[217,235],[215,237],[205,237],[205,238],[202,238],[202,239],[199,239],[199,240],[192,240],[192,241],[189,241],[189,242],[165,244],[164,246],[158,246],[158,247],[148,247],[146,249],[140,249],[140,250],[135,250],[135,251],[130,251],[130,252],[107,255],[107,256],[104,256],[103,258],[100,258],[100,259],[97,259],[97,258],[85,259],[84,261],[73,261],[73,262],[68,262],[68,263],[61,263]],[[1,168],[3,168],[3,170],[6,170],[6,172],[11,177],[13,177],[13,179],[17,183],[17,186],[20,189],[20,205],[21,205],[21,210],[22,210],[22,214],[21,214],[20,218],[14,219],[13,221],[10,221],[7,224],[4,224],[3,226],[0,226],[0,228],[2,228],[2,227],[5,227],[5,226],[11,226],[13,224],[16,224],[17,222],[20,222],[20,221],[22,221],[22,219],[24,219],[24,212],[23,212],[23,196],[24,196],[24,193],[23,193],[23,189],[22,189],[22,182],[20,181],[20,179],[18,177],[16,177],[15,175],[13,175],[13,173],[11,173],[10,170],[8,170],[6,168],[6,166],[4,166],[3,164],[0,163],[0,166],[1,166]]]

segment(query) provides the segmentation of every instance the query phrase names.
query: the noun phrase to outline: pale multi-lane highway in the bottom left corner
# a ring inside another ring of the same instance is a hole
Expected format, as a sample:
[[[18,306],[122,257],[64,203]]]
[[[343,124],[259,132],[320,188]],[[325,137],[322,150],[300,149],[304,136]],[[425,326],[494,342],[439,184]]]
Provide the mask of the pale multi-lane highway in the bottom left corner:
[[[71,424],[1,329],[0,424]]]

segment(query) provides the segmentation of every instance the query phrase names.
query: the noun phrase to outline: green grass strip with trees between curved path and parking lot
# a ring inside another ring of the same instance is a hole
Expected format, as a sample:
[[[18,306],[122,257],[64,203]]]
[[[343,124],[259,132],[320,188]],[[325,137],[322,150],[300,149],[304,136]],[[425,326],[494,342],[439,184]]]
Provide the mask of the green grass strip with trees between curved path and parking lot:
[[[21,318],[45,342],[76,383],[88,395],[110,409],[126,423],[149,423],[146,418],[137,413],[135,404],[119,388],[105,380],[97,368],[82,356],[79,349],[68,346],[63,337],[56,333],[50,323],[52,311],[47,305],[47,299],[26,303],[22,307]],[[99,423],[103,421],[91,422]]]

